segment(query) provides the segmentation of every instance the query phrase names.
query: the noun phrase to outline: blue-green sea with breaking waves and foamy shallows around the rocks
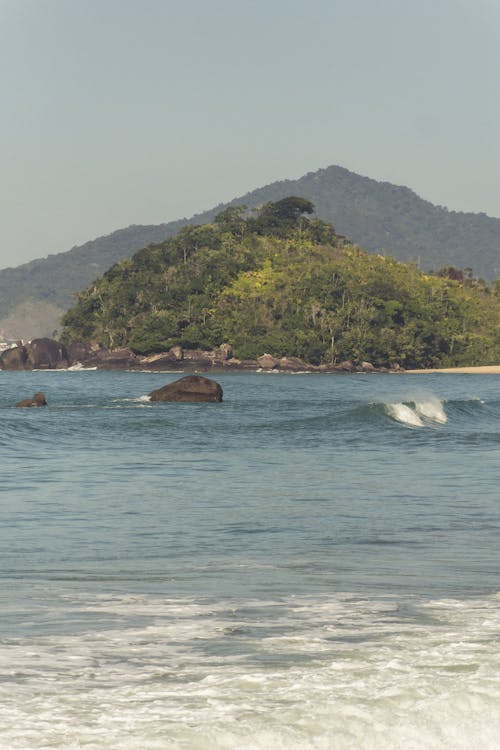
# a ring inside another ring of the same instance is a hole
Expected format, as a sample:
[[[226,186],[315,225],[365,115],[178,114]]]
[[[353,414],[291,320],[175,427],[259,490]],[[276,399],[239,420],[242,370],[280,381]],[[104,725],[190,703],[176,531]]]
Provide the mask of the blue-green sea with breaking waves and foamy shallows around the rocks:
[[[498,748],[500,377],[177,377],[0,372],[2,750]]]

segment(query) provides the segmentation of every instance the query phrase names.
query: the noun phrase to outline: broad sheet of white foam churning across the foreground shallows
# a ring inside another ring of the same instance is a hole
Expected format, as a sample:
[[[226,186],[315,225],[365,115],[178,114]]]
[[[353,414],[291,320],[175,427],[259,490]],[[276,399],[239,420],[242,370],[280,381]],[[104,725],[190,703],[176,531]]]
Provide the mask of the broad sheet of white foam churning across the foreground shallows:
[[[496,750],[499,605],[68,599],[122,626],[4,642],[0,746]]]

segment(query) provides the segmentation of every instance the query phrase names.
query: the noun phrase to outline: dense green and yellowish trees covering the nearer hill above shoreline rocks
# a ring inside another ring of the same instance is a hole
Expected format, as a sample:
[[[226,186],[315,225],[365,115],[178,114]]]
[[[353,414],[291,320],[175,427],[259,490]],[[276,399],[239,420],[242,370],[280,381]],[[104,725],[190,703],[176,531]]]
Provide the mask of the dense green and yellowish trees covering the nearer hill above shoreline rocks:
[[[81,292],[62,338],[141,354],[228,342],[239,358],[268,352],[313,363],[500,360],[498,285],[366,253],[312,211],[291,197],[184,227]]]

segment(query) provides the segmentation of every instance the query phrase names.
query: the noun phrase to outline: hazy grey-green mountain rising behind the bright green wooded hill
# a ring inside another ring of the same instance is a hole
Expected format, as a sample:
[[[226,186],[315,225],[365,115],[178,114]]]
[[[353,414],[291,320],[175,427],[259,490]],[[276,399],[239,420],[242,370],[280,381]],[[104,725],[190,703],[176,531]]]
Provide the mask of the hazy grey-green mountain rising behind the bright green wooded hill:
[[[338,233],[371,252],[412,261],[423,270],[457,266],[472,268],[474,275],[486,280],[500,275],[500,219],[448,211],[407,187],[331,166],[298,180],[274,182],[190,219],[130,226],[66,253],[0,271],[0,333],[10,337],[50,334],[72,304],[74,293],[113,263],[172,237],[186,224],[209,222],[227,206],[253,208],[288,195],[312,201],[320,219],[333,223]],[[35,316],[36,331],[34,318],[26,323],[29,331],[24,333],[20,317],[26,320],[26,303],[30,309],[38,306],[40,312]]]

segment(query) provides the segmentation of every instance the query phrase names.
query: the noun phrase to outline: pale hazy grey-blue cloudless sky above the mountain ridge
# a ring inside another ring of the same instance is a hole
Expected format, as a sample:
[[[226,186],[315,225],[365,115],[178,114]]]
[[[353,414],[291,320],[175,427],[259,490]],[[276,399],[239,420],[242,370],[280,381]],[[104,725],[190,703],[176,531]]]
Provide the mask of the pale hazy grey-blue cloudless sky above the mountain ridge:
[[[339,164],[500,216],[500,0],[0,0],[0,268]]]

